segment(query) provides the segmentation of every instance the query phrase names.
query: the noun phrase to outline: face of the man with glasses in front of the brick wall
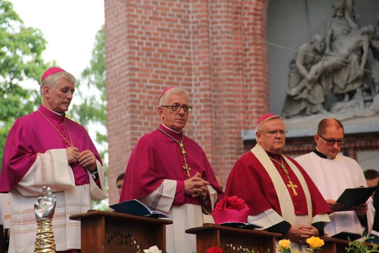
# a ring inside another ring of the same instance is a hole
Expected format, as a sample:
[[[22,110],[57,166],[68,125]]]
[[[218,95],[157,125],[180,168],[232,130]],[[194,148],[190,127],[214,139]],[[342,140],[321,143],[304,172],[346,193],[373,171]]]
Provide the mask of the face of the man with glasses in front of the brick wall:
[[[165,105],[189,106],[188,99],[185,94],[172,94],[168,97]],[[183,129],[188,120],[188,113],[185,113],[183,108],[180,108],[179,111],[174,112],[170,107],[159,107],[158,113],[162,118],[162,123],[164,126],[167,126],[177,132],[180,132]]]

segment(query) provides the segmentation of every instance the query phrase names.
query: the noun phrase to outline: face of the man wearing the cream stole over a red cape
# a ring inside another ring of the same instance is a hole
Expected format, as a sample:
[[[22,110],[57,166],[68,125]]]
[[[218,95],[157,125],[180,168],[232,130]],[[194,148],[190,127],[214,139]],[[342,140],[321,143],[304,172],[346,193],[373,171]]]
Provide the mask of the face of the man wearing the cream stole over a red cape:
[[[272,119],[263,123],[261,131],[256,133],[257,142],[263,149],[272,153],[279,154],[285,145],[285,135],[277,132],[274,135],[269,131],[285,131],[284,123],[281,119]]]

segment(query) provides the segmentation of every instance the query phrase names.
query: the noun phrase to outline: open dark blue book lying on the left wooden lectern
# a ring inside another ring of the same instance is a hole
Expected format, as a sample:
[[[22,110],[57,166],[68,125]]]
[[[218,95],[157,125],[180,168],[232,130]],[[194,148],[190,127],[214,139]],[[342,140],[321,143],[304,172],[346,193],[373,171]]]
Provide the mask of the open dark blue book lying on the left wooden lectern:
[[[117,204],[109,205],[116,212],[128,213],[139,216],[148,216],[153,218],[169,218],[165,213],[158,210],[150,210],[150,208],[137,199],[126,200]]]

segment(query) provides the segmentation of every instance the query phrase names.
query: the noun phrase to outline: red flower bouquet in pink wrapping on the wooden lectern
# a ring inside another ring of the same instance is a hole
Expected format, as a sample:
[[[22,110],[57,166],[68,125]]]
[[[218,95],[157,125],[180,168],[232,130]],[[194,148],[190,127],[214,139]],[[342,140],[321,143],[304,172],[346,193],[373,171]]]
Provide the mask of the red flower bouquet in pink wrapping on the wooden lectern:
[[[217,224],[229,221],[247,222],[248,215],[249,207],[245,200],[237,196],[224,197],[217,202],[212,212],[212,217]]]

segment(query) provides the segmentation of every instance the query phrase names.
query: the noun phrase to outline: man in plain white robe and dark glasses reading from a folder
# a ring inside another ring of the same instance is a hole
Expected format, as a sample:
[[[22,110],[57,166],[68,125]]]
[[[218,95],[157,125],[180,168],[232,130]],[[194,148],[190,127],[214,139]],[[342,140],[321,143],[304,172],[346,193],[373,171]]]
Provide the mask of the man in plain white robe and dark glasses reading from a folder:
[[[338,211],[343,204],[335,202],[345,189],[367,186],[357,161],[339,154],[346,141],[342,123],[336,119],[323,119],[317,128],[315,141],[317,147],[313,152],[295,160],[312,178],[332,210],[325,233],[333,236],[342,231],[361,233],[364,229],[365,233],[370,233],[375,212],[371,199],[353,206],[350,211]]]

